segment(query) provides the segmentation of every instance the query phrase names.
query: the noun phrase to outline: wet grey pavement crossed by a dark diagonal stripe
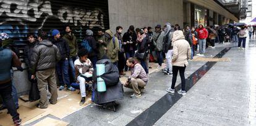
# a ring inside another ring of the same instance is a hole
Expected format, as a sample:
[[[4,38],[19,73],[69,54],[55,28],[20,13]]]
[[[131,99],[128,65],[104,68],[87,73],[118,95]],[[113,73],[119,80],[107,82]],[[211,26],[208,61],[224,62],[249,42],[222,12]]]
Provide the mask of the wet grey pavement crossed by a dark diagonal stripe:
[[[252,75],[256,75],[256,49],[248,43],[245,50],[235,45],[216,44],[205,55],[231,61],[189,61],[186,96],[167,93],[172,76],[155,72],[140,98],[129,98],[132,90],[124,88],[117,112],[90,104],[64,119],[46,117],[69,125],[255,125],[256,77]],[[177,77],[176,85],[180,83]],[[177,85],[176,90],[179,88]]]

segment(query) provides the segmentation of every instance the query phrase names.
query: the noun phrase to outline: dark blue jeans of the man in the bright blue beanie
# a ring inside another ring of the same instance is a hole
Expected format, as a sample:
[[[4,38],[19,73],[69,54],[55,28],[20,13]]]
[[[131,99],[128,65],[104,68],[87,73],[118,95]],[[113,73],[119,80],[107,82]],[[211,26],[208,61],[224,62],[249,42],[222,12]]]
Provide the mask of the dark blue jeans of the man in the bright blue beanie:
[[[67,87],[70,87],[69,81],[69,60],[61,60],[56,65],[59,84],[64,86],[65,84]],[[64,79],[63,79],[64,77]]]

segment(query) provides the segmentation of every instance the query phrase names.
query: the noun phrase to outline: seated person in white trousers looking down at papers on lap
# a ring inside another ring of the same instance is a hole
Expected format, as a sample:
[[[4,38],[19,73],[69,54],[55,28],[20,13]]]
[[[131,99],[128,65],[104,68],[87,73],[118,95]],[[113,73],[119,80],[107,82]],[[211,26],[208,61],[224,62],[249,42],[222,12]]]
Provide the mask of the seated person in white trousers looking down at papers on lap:
[[[82,106],[85,103],[85,81],[87,81],[87,77],[81,76],[81,74],[93,73],[93,65],[92,62],[87,58],[88,57],[88,51],[84,48],[80,49],[77,53],[79,56],[79,59],[75,60],[75,77],[77,78],[77,81],[79,81],[80,86],[80,92],[81,92],[81,101],[80,106]]]

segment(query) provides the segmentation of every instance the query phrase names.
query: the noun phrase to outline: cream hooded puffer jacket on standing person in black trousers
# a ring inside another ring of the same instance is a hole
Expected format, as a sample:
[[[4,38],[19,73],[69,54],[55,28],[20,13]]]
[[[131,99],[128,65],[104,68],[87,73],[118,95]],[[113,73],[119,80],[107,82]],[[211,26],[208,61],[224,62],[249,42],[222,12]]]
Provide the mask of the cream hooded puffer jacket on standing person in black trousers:
[[[174,31],[173,33],[173,57],[172,65],[173,66],[182,66],[189,65],[188,61],[191,56],[191,49],[189,42],[186,41],[182,31]]]

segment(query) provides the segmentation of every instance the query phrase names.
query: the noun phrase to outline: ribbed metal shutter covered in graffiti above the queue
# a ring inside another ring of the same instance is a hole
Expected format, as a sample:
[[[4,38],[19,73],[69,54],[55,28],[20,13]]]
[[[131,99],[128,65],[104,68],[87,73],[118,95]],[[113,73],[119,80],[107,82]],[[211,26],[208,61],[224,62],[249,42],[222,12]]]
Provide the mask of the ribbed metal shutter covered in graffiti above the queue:
[[[72,26],[79,40],[88,28],[108,29],[108,0],[0,0],[0,32],[17,45],[25,45],[30,33],[63,32],[65,25]]]

